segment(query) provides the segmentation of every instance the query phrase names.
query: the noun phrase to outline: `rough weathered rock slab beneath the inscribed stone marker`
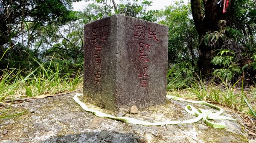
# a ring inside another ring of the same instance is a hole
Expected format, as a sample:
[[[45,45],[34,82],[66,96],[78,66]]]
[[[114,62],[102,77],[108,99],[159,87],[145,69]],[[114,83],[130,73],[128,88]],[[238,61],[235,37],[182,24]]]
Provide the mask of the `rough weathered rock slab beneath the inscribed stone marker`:
[[[186,120],[193,118],[184,111],[188,103],[166,101],[166,104],[139,109],[134,115],[122,109],[125,116],[145,121]],[[194,107],[205,106],[192,104]],[[111,115],[114,113],[99,109]],[[97,118],[85,112],[73,95],[64,95],[19,106],[28,109],[24,115],[1,120],[0,143],[247,143],[247,133],[239,121],[218,120],[226,129],[213,129],[200,121],[193,124],[142,126],[109,118]],[[225,116],[236,118],[225,109]],[[237,119],[237,118],[236,118]],[[3,135],[3,130],[7,134]]]

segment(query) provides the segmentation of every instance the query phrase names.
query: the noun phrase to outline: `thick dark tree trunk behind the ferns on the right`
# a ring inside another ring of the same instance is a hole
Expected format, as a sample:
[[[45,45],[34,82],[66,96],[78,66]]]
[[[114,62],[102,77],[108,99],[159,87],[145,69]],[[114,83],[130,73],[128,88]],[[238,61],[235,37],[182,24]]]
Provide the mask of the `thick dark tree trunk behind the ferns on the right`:
[[[230,3],[225,13],[222,13],[224,0],[222,0],[221,7],[217,3],[218,0],[203,0],[204,6],[201,6],[201,0],[191,0],[192,15],[199,35],[198,43],[200,43],[198,47],[198,73],[203,77],[211,76],[214,68],[211,60],[215,56],[215,50],[220,49],[221,47],[218,46],[221,45],[211,48],[205,45],[204,42],[201,42],[201,40],[207,32],[219,31],[218,23],[220,20],[225,20],[226,25],[230,25],[232,15]]]

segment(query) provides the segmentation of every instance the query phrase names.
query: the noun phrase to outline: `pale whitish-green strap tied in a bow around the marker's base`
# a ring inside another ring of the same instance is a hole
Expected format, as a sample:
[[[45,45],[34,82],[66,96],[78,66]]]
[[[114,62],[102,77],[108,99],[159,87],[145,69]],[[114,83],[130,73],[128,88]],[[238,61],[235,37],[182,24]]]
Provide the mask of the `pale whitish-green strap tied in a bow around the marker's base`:
[[[89,109],[83,102],[81,102],[78,98],[78,96],[81,96],[83,94],[80,93],[76,93],[76,95],[73,97],[73,99],[76,101],[77,104],[79,104],[85,111],[87,112],[92,112],[94,115],[98,116],[98,117],[107,117],[107,118],[111,118],[111,119],[115,119],[115,120],[119,120],[119,121],[123,121],[125,123],[131,123],[131,124],[139,124],[139,125],[155,125],[155,126],[161,126],[161,125],[165,125],[165,124],[184,124],[184,123],[195,123],[200,121],[201,119],[203,119],[203,121],[205,123],[207,123],[208,126],[212,126],[213,128],[225,128],[226,125],[224,123],[215,123],[212,121],[209,121],[208,119],[226,119],[226,120],[233,120],[236,121],[236,119],[233,118],[229,118],[229,117],[225,117],[225,116],[220,116],[221,113],[224,112],[224,110],[221,107],[215,106],[213,104],[209,104],[207,102],[204,101],[191,101],[191,100],[185,100],[183,98],[179,98],[176,96],[172,96],[172,95],[167,95],[166,98],[168,99],[174,99],[174,100],[178,100],[178,101],[186,101],[186,102],[190,102],[190,103],[195,103],[195,104],[202,104],[202,105],[206,105],[208,107],[217,109],[218,112],[212,113],[212,111],[210,110],[205,110],[205,109],[195,109],[195,107],[191,106],[191,105],[187,105],[185,107],[186,112],[188,112],[191,115],[196,116],[196,118],[194,119],[190,119],[190,120],[186,120],[186,121],[156,121],[154,123],[152,122],[148,122],[148,121],[142,121],[142,120],[137,120],[134,118],[129,118],[129,117],[115,117],[112,115],[108,115],[105,114],[103,112],[99,112],[97,110],[93,110],[93,109]]]

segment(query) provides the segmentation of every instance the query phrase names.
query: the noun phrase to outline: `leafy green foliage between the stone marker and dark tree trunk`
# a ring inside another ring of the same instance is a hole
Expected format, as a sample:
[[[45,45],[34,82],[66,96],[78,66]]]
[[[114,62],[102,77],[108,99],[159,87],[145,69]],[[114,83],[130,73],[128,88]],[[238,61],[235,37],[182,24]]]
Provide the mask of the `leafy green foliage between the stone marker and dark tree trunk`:
[[[167,89],[183,89],[194,81],[197,60],[197,37],[190,4],[175,2],[157,12],[160,24],[169,26]]]

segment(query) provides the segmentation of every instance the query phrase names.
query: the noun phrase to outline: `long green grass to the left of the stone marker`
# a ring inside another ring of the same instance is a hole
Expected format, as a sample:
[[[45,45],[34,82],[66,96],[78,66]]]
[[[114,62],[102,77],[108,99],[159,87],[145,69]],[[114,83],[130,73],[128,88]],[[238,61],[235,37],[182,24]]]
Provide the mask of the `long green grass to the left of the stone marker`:
[[[2,73],[0,74],[0,102],[9,105],[8,109],[0,110],[0,119],[26,112],[12,111],[12,103],[5,103],[6,100],[70,92],[81,87],[83,76],[79,75],[80,70],[77,73],[62,72],[64,69],[60,69],[59,64],[53,62],[52,59],[49,66],[39,62],[38,64],[38,68],[33,71],[23,71],[17,68],[0,70]],[[50,68],[51,65],[54,69]]]

